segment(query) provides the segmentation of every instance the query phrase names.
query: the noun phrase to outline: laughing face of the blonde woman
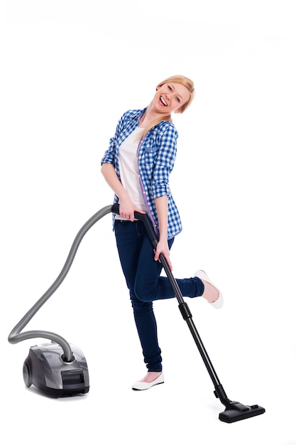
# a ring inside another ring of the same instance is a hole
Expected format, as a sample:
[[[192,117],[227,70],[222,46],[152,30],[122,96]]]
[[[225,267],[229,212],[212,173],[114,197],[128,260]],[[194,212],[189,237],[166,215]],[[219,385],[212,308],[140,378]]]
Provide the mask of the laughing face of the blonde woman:
[[[190,92],[180,83],[165,83],[159,87],[153,98],[155,112],[161,114],[177,113],[182,105],[190,100]]]

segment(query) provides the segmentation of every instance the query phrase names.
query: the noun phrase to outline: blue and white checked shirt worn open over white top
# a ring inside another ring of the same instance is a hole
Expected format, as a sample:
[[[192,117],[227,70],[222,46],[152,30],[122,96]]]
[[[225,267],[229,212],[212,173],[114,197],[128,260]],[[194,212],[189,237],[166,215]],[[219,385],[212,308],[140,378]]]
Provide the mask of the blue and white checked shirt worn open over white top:
[[[110,139],[109,149],[105,151],[102,163],[111,163],[120,179],[119,147],[124,139],[138,127],[139,118],[145,109],[128,110],[123,114]],[[161,121],[150,129],[138,144],[138,168],[140,185],[147,213],[158,235],[158,214],[155,198],[168,195],[168,240],[182,230],[180,215],[170,193],[169,176],[177,154],[177,130],[171,121]],[[114,195],[114,203],[119,197]],[[115,216],[114,216],[115,218]]]

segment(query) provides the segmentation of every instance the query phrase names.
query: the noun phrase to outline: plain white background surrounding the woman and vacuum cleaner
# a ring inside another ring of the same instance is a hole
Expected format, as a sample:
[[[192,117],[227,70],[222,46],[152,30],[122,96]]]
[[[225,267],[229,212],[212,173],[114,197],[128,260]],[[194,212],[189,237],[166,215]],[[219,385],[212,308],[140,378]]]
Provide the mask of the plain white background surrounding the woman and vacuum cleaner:
[[[1,1],[1,443],[296,444],[294,6]],[[184,230],[173,273],[204,269],[224,293],[221,311],[187,302],[229,398],[266,409],[235,424],[218,419],[223,405],[175,299],[154,306],[165,385],[131,390],[146,368],[111,215],[28,324],[83,350],[89,394],[27,389],[23,360],[43,340],[7,341],[80,227],[112,203],[100,160],[119,117],[174,74],[192,77],[197,94],[174,117]]]

